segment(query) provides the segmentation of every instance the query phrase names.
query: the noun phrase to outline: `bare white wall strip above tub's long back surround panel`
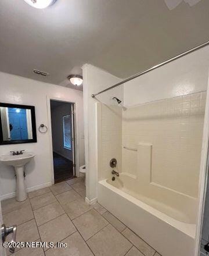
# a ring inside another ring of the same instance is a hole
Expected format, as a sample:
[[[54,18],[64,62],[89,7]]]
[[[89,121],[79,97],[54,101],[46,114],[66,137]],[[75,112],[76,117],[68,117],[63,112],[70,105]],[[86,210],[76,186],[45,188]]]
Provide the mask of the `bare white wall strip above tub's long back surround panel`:
[[[133,106],[158,99],[207,90],[209,47],[204,47],[124,84],[124,104]]]

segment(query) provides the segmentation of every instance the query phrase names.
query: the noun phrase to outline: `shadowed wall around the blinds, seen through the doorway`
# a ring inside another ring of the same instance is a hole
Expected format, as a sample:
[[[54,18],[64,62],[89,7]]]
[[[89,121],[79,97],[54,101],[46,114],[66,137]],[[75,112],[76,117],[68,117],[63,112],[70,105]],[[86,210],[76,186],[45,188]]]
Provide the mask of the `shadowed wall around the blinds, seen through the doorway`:
[[[63,103],[62,105],[51,108],[52,144],[53,151],[73,161],[73,151],[64,148],[63,143],[63,116],[67,115],[71,116],[71,104]]]

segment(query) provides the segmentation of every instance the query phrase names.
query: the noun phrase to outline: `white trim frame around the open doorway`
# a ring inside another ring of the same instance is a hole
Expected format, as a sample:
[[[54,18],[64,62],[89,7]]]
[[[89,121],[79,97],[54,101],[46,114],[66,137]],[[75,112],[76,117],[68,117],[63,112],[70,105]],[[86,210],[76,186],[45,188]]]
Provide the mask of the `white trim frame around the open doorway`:
[[[50,101],[60,101],[63,103],[70,103],[74,105],[74,137],[75,137],[75,142],[74,142],[74,155],[75,155],[75,176],[78,176],[78,171],[79,171],[79,136],[78,136],[78,118],[77,118],[77,113],[78,113],[78,103],[77,102],[72,102],[68,101],[66,99],[62,98],[56,98],[56,97],[51,97],[51,96],[46,96],[46,103],[47,103],[47,115],[48,115],[48,134],[49,134],[49,148],[50,148],[50,165],[51,165],[51,183],[55,184],[55,177],[54,177],[54,169],[53,169],[53,147],[52,147],[52,122],[51,122],[51,105]]]

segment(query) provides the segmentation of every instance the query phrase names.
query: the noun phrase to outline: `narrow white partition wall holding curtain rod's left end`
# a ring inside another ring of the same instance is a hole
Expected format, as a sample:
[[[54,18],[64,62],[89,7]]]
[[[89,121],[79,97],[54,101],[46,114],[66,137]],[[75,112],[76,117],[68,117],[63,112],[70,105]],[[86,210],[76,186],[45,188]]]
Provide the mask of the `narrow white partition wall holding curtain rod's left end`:
[[[95,104],[102,101],[106,104],[115,104],[113,95],[123,100],[122,87],[117,87],[96,99],[92,94],[120,81],[118,77],[92,65],[82,67],[84,78],[84,127],[85,127],[85,164],[87,166],[87,198],[89,201],[97,197],[97,152],[96,152],[96,119]]]

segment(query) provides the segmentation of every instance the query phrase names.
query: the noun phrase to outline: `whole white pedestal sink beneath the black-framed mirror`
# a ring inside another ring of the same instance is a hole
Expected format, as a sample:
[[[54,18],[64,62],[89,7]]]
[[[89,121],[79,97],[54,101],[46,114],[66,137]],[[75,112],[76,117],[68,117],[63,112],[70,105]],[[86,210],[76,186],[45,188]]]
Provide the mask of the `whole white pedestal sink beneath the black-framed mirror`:
[[[24,201],[27,198],[26,184],[24,182],[24,165],[34,158],[33,153],[24,152],[22,155],[1,155],[0,162],[15,168],[17,176],[16,200]]]

